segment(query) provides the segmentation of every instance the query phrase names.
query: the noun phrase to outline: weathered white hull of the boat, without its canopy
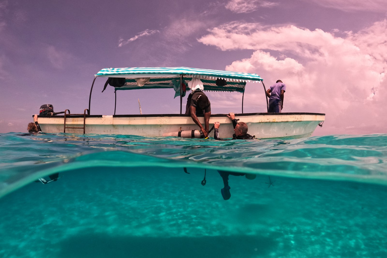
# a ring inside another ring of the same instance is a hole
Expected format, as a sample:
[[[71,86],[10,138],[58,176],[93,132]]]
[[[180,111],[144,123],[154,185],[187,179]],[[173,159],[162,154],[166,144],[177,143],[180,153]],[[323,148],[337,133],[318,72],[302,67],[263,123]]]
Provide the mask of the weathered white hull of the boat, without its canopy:
[[[325,120],[319,113],[248,113],[235,114],[239,121],[246,122],[248,133],[258,139],[309,137],[316,126]],[[204,124],[204,117],[199,117]],[[224,114],[210,118],[210,127],[215,121],[221,123],[219,136],[231,138],[234,134],[231,120]],[[64,116],[39,116],[38,122],[44,133],[64,132]],[[83,134],[83,115],[66,117],[66,133]],[[188,115],[87,115],[85,133],[99,135],[137,135],[162,137],[178,131],[198,130]],[[213,134],[210,134],[213,137]]]

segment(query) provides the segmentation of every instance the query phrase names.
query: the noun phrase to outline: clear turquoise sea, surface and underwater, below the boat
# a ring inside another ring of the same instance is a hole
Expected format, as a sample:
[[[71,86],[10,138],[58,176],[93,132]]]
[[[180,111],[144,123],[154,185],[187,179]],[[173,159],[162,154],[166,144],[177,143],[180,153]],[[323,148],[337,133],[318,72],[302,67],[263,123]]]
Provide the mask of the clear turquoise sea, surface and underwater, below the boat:
[[[0,257],[385,258],[387,134],[0,134]]]

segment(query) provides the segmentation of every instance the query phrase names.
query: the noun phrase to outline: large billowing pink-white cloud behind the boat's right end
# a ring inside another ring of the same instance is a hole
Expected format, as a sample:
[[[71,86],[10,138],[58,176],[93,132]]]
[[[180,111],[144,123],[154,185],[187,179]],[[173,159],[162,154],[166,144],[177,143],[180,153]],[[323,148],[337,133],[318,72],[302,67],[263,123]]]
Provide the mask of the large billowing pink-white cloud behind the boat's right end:
[[[320,29],[229,23],[199,39],[222,50],[252,49],[227,69],[260,74],[270,86],[288,85],[285,112],[327,114],[329,133],[380,133],[387,126],[387,21],[345,37]],[[245,96],[245,101],[255,99]],[[264,110],[261,110],[264,111]],[[326,132],[328,132],[326,130]]]

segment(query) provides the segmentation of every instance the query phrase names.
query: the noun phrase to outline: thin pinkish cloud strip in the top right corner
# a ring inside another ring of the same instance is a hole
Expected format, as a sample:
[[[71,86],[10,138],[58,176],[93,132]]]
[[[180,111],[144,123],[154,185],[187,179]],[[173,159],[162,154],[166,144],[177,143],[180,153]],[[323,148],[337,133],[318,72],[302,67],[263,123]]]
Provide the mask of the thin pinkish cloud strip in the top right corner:
[[[303,0],[305,1],[305,0]],[[340,9],[342,11],[372,11],[384,13],[387,11],[385,0],[306,0],[317,5],[328,8]]]

